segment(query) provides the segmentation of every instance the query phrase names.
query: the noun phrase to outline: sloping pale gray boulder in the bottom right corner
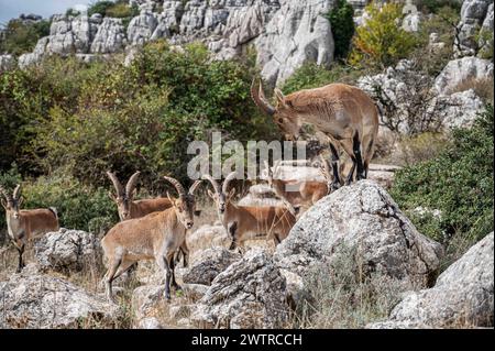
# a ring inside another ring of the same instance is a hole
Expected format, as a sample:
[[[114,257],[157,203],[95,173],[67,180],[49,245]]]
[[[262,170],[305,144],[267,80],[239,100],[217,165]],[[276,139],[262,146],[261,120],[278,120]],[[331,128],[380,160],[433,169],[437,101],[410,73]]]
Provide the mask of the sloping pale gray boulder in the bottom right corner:
[[[486,235],[447,268],[435,287],[410,292],[389,320],[369,328],[459,328],[494,326],[494,234]]]

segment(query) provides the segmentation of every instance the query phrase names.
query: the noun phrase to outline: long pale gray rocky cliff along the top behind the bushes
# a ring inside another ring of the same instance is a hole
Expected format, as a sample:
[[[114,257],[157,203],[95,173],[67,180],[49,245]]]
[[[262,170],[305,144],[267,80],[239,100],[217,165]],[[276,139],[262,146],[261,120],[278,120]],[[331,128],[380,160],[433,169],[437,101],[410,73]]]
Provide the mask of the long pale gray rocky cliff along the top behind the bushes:
[[[121,19],[99,14],[54,15],[50,35],[21,67],[44,55],[113,54],[148,41],[167,39],[173,45],[201,41],[219,59],[232,58],[254,44],[263,76],[280,84],[306,62],[329,65],[333,57],[330,22],[323,17],[331,0],[190,0],[164,1],[163,12],[142,4],[127,32]],[[86,57],[86,56],[81,56]]]

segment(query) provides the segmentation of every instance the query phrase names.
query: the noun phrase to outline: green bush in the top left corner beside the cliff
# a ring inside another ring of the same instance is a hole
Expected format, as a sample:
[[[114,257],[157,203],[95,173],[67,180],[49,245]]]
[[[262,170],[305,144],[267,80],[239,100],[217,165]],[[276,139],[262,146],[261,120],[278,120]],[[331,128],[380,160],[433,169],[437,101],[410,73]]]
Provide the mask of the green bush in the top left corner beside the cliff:
[[[50,21],[24,22],[20,19],[10,20],[0,36],[0,53],[19,56],[32,52],[37,40],[50,34]]]

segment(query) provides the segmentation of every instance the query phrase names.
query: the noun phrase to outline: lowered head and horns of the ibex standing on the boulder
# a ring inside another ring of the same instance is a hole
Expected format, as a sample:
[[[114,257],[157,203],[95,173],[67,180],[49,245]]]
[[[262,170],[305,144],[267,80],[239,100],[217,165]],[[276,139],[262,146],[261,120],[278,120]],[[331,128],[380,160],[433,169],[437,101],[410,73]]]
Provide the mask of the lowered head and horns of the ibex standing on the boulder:
[[[251,84],[251,97],[254,100],[254,103],[256,103],[263,112],[273,118],[275,124],[277,124],[285,134],[286,140],[297,140],[301,128],[301,122],[297,118],[297,112],[294,110],[290,101],[286,99],[278,88],[275,88],[274,92],[277,99],[276,107],[273,107],[265,98],[261,80],[260,84],[256,85],[256,79],[253,79],[253,83]]]

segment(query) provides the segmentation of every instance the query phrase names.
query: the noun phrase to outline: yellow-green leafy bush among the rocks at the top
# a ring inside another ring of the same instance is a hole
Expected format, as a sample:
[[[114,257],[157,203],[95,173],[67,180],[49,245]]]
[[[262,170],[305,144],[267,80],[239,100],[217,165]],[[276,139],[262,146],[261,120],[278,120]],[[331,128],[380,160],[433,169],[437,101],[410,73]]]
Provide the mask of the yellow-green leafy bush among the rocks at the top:
[[[356,28],[350,63],[383,69],[408,57],[417,46],[416,36],[402,29],[402,6],[372,2],[365,11],[370,15]]]

